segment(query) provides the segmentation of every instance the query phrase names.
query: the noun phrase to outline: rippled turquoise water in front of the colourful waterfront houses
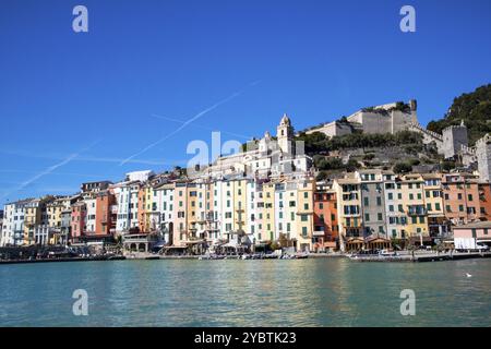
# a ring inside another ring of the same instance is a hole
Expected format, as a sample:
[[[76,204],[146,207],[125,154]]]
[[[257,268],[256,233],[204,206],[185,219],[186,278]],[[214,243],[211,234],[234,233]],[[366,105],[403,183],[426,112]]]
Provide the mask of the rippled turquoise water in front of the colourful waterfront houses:
[[[72,313],[75,289],[88,316]],[[403,289],[416,293],[415,316],[400,315]],[[491,260],[0,265],[0,325],[490,326]]]

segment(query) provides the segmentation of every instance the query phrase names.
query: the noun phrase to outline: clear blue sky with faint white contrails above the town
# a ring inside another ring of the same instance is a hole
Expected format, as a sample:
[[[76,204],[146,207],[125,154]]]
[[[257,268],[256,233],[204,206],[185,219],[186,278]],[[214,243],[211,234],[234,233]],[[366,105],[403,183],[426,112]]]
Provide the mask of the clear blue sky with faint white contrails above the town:
[[[72,31],[76,4],[88,33]],[[0,204],[182,166],[190,141],[261,136],[284,112],[300,130],[416,98],[426,124],[491,82],[490,14],[486,0],[2,0]]]

